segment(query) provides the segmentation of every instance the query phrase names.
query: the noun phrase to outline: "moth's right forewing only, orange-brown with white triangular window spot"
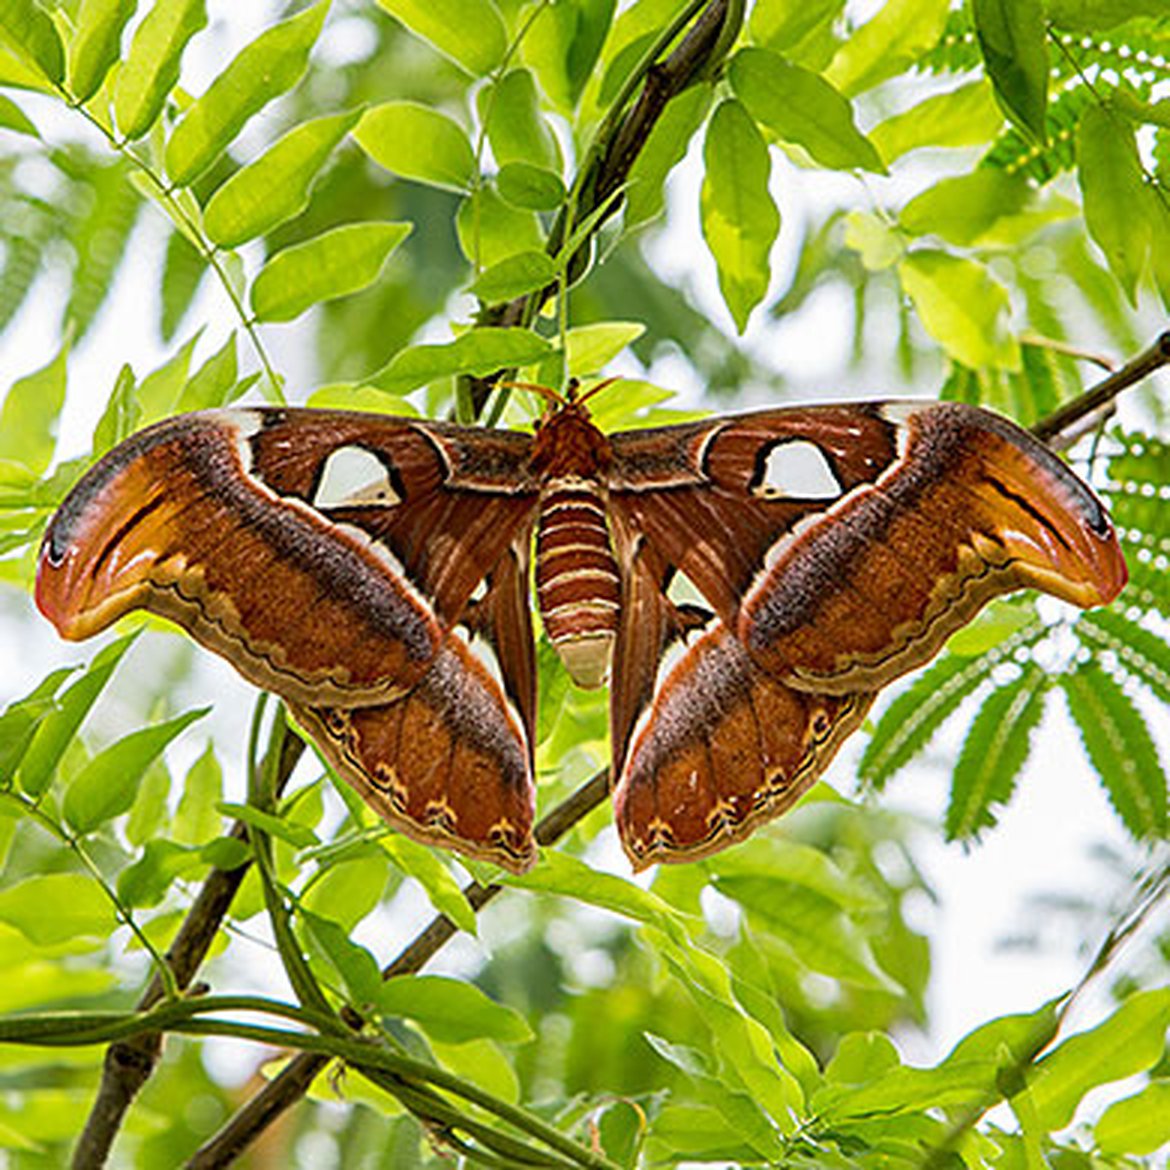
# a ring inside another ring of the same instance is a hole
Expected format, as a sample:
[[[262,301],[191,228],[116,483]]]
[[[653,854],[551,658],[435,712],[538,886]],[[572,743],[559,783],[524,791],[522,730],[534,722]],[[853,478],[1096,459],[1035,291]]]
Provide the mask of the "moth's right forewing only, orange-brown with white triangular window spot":
[[[885,684],[997,594],[1101,605],[1126,580],[1089,489],[975,407],[765,411],[614,435],[613,449],[621,525],[694,581],[757,663],[811,690]],[[784,474],[810,449],[814,497]]]

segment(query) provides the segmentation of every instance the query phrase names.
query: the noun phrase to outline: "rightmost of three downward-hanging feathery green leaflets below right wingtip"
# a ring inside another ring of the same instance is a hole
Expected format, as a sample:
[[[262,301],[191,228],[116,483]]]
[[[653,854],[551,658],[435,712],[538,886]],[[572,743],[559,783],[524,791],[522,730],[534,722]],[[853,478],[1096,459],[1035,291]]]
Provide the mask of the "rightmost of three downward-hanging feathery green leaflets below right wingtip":
[[[1144,716],[1093,662],[1066,674],[1061,684],[1081,742],[1117,815],[1134,837],[1162,835],[1166,782]]]

